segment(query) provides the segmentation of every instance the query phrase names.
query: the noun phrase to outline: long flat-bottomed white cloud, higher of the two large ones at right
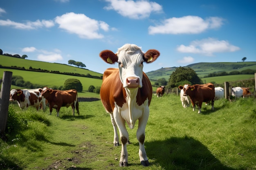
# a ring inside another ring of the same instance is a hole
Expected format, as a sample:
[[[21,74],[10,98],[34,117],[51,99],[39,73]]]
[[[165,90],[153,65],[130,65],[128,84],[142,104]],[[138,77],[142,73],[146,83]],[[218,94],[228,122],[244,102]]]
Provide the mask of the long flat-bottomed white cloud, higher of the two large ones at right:
[[[169,18],[162,21],[157,26],[149,26],[149,34],[197,34],[207,29],[216,29],[222,26],[223,19],[218,17],[209,17],[202,19],[198,16],[184,16],[181,18]]]

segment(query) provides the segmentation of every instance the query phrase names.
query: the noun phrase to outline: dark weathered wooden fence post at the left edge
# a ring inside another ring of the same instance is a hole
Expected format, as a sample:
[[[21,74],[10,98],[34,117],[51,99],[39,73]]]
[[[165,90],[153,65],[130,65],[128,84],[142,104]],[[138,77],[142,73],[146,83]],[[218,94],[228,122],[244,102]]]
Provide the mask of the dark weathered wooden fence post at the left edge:
[[[2,87],[0,92],[0,137],[5,138],[4,131],[7,124],[9,96],[11,89],[12,72],[4,71],[2,79]]]

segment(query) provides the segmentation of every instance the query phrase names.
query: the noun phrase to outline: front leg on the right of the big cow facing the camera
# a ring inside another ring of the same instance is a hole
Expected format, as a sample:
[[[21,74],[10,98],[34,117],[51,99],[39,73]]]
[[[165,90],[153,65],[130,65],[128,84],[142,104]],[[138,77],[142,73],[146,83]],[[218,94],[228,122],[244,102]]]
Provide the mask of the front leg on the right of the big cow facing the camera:
[[[149,166],[148,157],[144,147],[145,141],[145,128],[148,121],[149,108],[145,108],[143,116],[139,119],[139,125],[137,130],[137,139],[139,141],[139,160],[141,165]]]

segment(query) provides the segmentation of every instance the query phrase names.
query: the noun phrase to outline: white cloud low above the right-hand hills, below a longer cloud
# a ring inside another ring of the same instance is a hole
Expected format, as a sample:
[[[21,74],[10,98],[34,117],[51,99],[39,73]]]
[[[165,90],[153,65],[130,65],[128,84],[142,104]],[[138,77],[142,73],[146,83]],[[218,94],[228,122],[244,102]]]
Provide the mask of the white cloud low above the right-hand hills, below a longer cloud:
[[[189,46],[182,44],[177,47],[177,51],[181,53],[198,53],[207,56],[212,56],[213,53],[234,52],[238,50],[240,50],[238,46],[229,44],[228,41],[216,40],[214,38],[195,40]]]

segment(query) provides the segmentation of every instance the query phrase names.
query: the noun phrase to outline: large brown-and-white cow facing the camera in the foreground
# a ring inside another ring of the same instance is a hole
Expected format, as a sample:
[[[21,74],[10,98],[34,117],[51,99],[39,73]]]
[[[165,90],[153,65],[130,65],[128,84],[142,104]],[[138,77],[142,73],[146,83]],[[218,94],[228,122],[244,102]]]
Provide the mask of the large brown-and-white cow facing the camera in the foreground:
[[[119,129],[122,144],[119,166],[128,166],[129,135],[125,124],[133,129],[137,120],[139,159],[141,165],[149,166],[144,140],[152,86],[142,68],[143,63],[152,63],[159,55],[159,51],[155,49],[143,53],[135,44],[125,44],[116,54],[110,50],[101,51],[99,54],[109,64],[118,63],[118,68],[108,68],[103,73],[100,98],[106,112],[110,113],[114,128],[114,146],[119,146],[117,127]]]

